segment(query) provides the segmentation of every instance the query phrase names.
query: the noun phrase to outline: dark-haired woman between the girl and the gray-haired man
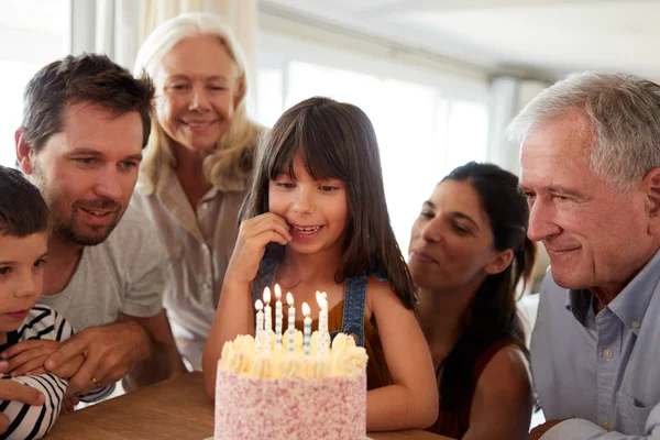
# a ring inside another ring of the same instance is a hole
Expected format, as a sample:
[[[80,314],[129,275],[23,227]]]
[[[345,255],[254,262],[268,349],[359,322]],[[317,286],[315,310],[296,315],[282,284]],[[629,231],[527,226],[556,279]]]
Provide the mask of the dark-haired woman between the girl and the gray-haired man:
[[[527,435],[532,398],[516,287],[535,262],[528,216],[516,176],[471,162],[436,186],[413,227],[408,266],[440,396],[433,432]]]

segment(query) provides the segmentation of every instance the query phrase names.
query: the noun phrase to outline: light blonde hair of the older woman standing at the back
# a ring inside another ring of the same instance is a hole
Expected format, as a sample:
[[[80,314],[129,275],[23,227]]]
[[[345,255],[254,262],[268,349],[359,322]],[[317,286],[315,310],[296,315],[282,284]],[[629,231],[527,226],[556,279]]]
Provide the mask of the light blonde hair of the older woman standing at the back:
[[[248,75],[245,57],[231,30],[219,15],[208,12],[186,13],[167,20],[144,41],[138,53],[135,77],[154,77],[163,57],[182,40],[197,35],[216,35],[234,62],[235,102],[230,129],[219,140],[212,154],[204,161],[204,174],[220,190],[242,190],[252,172],[252,152],[263,129],[248,119],[245,96]],[[175,165],[169,136],[152,118],[152,134],[142,161],[138,190],[153,193],[164,164]]]

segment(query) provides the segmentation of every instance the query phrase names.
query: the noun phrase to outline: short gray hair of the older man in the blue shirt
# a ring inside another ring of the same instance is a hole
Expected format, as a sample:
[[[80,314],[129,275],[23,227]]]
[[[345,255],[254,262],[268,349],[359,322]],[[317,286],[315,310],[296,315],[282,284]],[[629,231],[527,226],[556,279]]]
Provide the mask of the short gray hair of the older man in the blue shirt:
[[[660,86],[626,74],[582,73],[540,92],[507,128],[522,144],[535,127],[575,118],[576,130],[592,138],[593,173],[613,188],[631,189],[660,167]]]

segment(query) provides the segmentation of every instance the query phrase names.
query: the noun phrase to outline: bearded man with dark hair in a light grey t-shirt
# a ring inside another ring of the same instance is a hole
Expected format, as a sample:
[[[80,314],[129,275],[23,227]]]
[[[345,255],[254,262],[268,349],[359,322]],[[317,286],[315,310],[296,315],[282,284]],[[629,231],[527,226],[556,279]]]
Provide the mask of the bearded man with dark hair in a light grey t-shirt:
[[[67,56],[28,85],[16,156],[53,223],[41,301],[78,333],[55,353],[19,343],[0,353],[6,369],[25,373],[33,359],[57,374],[82,355],[69,381],[77,392],[129,372],[129,385],[139,386],[185,370],[162,307],[165,252],[148,221],[129,208],[152,99],[151,82],[105,55]]]

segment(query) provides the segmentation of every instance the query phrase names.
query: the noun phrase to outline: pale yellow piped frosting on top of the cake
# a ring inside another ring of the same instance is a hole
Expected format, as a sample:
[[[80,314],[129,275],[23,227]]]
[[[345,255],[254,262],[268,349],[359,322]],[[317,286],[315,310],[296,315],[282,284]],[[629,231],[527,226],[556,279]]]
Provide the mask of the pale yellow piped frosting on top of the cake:
[[[220,366],[233,374],[255,378],[326,378],[336,376],[355,377],[366,369],[366,351],[355,346],[352,338],[337,334],[332,349],[318,356],[319,336],[314,332],[310,340],[310,354],[305,355],[302,333],[297,330],[294,337],[294,352],[288,351],[288,336],[283,334],[283,346],[277,348],[275,338],[265,352],[257,352],[254,338],[241,334],[228,341],[222,348]]]

